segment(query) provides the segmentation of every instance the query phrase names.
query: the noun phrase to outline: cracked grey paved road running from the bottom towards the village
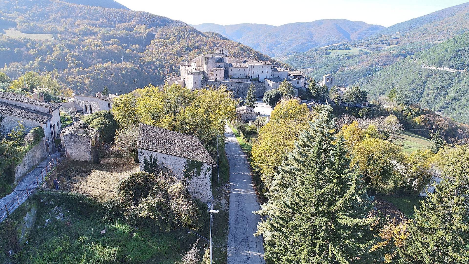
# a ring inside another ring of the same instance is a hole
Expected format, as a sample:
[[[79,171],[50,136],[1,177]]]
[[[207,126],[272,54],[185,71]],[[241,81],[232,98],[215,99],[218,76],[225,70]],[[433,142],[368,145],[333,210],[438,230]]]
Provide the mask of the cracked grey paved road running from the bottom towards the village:
[[[252,213],[260,209],[252,185],[249,164],[231,128],[225,133],[230,165],[230,209],[228,232],[228,264],[264,264],[261,236],[254,236],[260,216]]]

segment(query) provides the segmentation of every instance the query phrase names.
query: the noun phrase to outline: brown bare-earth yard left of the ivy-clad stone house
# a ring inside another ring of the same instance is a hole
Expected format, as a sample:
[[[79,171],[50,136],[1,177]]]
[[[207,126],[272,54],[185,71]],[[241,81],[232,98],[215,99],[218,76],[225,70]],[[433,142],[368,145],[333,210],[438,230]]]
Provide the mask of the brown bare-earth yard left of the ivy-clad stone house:
[[[117,186],[121,180],[138,171],[138,163],[94,164],[74,161],[59,172],[59,189],[87,194],[106,202],[117,196]]]

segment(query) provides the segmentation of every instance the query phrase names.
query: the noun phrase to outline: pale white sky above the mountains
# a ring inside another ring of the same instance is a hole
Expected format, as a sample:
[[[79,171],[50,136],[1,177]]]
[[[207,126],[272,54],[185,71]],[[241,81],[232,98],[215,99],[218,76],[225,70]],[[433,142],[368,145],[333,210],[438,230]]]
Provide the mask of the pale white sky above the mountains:
[[[467,0],[117,0],[124,6],[189,24],[260,23],[279,26],[343,18],[389,27]],[[332,2],[332,3],[331,3]],[[230,3],[235,3],[231,6]]]

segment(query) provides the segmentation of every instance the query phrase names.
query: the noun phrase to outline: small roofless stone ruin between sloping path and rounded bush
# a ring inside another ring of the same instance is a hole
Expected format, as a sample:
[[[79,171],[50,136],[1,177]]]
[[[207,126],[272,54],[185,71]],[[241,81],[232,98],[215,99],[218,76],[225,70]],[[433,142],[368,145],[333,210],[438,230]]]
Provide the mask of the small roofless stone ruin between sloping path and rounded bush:
[[[83,128],[83,121],[76,121],[62,129],[62,148],[68,152],[70,160],[98,162],[99,132]]]

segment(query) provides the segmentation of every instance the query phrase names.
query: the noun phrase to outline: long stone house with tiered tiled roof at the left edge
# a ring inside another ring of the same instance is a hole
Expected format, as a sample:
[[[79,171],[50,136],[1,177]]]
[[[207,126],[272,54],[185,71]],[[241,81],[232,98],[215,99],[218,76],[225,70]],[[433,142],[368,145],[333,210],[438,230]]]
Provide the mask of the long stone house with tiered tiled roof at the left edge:
[[[5,132],[11,131],[21,122],[28,133],[32,128],[42,127],[45,138],[49,140],[47,152],[55,149],[54,138],[61,129],[60,104],[44,101],[44,95],[38,99],[23,95],[0,92],[0,114],[3,115],[2,127]]]

